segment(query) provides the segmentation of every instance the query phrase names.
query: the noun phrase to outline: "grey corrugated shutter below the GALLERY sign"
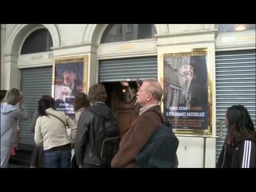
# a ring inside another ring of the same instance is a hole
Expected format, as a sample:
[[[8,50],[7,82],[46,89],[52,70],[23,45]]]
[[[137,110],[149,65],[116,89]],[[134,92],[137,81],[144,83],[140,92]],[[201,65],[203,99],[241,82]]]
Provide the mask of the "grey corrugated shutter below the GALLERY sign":
[[[51,95],[52,67],[30,68],[21,70],[21,92],[25,99],[29,119],[20,121],[20,143],[35,145],[34,133],[30,131],[30,123],[37,110],[39,98]]]

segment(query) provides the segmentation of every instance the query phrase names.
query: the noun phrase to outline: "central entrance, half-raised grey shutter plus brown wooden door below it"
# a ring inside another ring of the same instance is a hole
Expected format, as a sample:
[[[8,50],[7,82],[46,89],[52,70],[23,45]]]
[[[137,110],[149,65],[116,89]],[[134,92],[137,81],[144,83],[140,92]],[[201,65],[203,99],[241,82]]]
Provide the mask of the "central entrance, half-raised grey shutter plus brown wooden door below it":
[[[106,87],[107,105],[116,111],[121,133],[139,115],[139,106],[134,107],[136,98],[129,96],[129,90],[124,89],[121,81],[129,81],[137,93],[137,79],[157,79],[156,56],[100,60],[99,82]]]

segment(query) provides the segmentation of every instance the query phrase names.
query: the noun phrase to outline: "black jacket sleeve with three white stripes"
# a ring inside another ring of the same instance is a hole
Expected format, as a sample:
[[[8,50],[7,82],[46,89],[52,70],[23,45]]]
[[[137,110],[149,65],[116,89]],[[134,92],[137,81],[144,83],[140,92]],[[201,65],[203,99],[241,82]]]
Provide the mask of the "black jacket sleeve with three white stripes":
[[[245,140],[243,144],[241,168],[255,167],[255,142]]]

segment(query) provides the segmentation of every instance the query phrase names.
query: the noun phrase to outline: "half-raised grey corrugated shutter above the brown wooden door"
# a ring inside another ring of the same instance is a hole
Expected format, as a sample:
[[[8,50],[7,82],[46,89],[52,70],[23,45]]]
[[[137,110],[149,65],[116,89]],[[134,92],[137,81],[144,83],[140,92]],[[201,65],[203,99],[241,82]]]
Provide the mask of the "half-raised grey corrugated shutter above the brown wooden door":
[[[101,60],[99,82],[157,79],[157,57]]]

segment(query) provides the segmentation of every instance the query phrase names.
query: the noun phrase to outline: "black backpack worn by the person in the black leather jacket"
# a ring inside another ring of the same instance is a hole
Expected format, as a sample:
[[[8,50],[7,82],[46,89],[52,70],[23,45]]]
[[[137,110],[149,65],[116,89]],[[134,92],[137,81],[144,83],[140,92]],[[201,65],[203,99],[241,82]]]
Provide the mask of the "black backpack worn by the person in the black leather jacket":
[[[93,106],[87,109],[99,117],[99,127],[95,133],[95,152],[103,165],[111,167],[111,160],[118,152],[121,140],[114,114],[111,113],[108,117],[104,117],[100,115],[100,109],[97,107]]]

